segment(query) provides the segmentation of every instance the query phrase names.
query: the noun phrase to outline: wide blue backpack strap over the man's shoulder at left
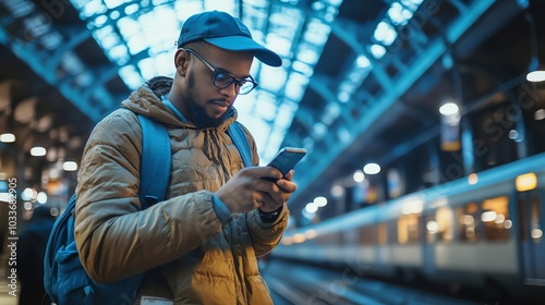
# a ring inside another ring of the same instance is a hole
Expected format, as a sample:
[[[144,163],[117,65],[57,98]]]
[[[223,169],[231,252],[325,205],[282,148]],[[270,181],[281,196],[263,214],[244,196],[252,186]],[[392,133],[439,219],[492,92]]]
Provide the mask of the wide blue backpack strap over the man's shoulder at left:
[[[165,126],[137,114],[142,126],[138,197],[143,209],[165,198],[170,175],[170,137]]]

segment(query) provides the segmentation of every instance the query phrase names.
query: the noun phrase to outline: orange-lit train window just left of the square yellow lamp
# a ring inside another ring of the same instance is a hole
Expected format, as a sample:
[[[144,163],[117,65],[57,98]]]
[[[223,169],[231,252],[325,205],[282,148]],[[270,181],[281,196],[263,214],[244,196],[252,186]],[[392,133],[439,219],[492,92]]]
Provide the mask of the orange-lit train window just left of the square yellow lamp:
[[[488,241],[509,240],[509,229],[511,220],[509,219],[509,198],[499,196],[483,202],[483,213],[481,221],[484,225],[484,235]]]

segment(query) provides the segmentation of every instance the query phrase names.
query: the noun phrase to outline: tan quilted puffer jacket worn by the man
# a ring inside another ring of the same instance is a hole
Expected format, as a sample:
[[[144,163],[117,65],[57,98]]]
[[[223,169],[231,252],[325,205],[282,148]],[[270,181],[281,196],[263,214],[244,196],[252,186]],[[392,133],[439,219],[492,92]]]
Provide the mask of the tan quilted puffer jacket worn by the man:
[[[243,168],[226,133],[235,111],[217,129],[197,130],[145,86],[122,107],[94,129],[78,174],[75,239],[87,272],[111,282],[147,271],[136,304],[142,295],[174,304],[271,304],[256,256],[278,244],[288,209],[274,223],[254,210],[223,225],[213,209],[211,192]],[[172,149],[168,199],[143,211],[135,112],[164,123]],[[256,164],[255,142],[246,134]]]

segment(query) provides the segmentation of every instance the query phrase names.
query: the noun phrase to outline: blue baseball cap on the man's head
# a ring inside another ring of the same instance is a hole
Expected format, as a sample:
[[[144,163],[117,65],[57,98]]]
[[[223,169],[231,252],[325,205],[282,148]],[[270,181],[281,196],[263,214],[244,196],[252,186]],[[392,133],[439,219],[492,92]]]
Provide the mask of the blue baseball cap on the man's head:
[[[282,59],[277,53],[257,44],[238,17],[225,12],[204,12],[189,17],[183,23],[178,47],[195,40],[204,40],[230,51],[251,51],[265,64],[282,65]]]

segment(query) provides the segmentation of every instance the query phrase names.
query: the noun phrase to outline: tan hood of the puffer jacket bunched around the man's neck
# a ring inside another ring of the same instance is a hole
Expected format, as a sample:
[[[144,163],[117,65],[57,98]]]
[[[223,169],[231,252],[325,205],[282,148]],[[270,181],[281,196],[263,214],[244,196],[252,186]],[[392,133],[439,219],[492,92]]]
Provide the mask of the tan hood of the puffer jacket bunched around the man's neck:
[[[174,127],[196,129],[191,122],[182,122],[178,117],[162,102],[161,97],[170,91],[172,78],[166,76],[154,77],[144,83],[140,88],[133,91],[128,99],[121,102],[121,107],[132,110],[135,113],[148,117]],[[229,119],[227,119],[219,129],[227,129],[237,120],[237,109],[231,108]]]

